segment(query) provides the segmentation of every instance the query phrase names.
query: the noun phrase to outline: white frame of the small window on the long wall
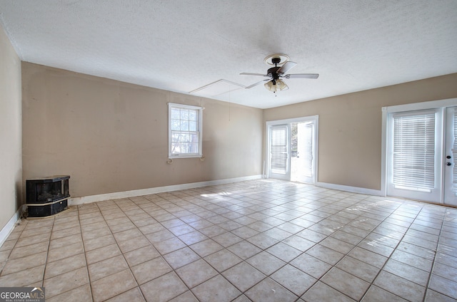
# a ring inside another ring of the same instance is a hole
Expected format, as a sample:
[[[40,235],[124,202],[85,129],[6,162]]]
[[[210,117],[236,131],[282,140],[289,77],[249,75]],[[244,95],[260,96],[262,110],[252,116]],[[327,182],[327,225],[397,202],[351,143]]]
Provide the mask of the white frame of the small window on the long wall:
[[[197,112],[197,129],[196,131],[183,131],[179,130],[179,132],[196,132],[197,137],[198,137],[198,152],[195,153],[173,153],[172,152],[172,132],[175,132],[176,130],[171,130],[171,110],[173,108],[182,110],[182,109],[188,109],[188,110],[196,110]],[[203,126],[203,108],[199,106],[194,106],[194,105],[184,105],[184,104],[178,104],[178,103],[169,103],[169,159],[174,159],[174,158],[193,158],[193,157],[203,157],[203,150],[202,150],[202,126]]]

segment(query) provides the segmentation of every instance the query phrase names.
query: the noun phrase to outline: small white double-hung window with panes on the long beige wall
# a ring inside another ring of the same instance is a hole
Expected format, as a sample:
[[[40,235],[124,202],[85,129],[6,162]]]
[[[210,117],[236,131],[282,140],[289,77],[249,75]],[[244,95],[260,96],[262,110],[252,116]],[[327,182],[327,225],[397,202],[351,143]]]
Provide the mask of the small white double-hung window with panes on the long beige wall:
[[[202,157],[203,108],[169,103],[169,158]]]

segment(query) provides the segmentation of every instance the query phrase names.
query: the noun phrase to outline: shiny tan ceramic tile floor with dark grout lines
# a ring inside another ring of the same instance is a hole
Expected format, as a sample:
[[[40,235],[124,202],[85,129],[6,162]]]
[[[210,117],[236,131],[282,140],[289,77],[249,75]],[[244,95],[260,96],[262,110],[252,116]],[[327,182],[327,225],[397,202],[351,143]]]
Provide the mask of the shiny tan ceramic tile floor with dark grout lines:
[[[24,219],[0,286],[46,301],[457,301],[457,209],[256,181]]]

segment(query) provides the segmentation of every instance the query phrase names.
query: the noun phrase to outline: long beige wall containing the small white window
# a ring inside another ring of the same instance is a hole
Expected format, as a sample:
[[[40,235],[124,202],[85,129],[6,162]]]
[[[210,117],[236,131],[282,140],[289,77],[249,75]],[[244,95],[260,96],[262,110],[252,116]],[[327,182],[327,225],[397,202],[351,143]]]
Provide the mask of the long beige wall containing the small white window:
[[[25,62],[22,96],[24,182],[71,175],[84,197],[262,172],[260,109]],[[204,161],[167,163],[168,102],[205,108]]]

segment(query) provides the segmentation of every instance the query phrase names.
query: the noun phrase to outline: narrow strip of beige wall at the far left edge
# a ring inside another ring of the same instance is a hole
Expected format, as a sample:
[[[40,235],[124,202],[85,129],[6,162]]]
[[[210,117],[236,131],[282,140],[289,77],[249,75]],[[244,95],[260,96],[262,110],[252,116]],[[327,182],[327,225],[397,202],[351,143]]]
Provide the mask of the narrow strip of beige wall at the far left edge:
[[[21,205],[21,61],[0,27],[0,230]]]

